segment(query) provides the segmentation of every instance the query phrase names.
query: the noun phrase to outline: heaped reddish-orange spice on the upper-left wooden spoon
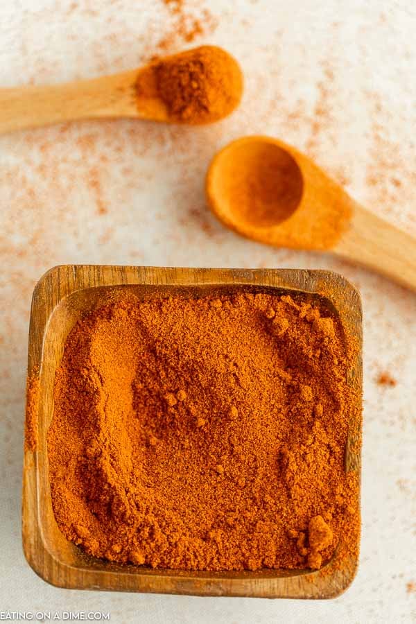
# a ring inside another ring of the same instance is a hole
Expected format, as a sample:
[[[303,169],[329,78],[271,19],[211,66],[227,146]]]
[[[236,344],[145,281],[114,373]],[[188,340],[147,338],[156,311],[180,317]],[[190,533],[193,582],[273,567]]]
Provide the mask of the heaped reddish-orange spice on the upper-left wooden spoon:
[[[137,83],[139,98],[159,96],[172,121],[209,123],[239,105],[243,78],[239,64],[223,49],[202,46],[151,66],[152,80]]]

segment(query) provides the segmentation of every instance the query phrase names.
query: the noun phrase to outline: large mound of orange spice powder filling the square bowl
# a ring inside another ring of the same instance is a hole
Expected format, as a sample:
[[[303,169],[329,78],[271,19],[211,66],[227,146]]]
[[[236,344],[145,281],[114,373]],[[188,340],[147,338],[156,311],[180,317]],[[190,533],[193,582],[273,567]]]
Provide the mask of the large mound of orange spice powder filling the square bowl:
[[[95,557],[170,569],[354,555],[349,349],[301,295],[128,295],[85,315],[48,433],[60,530]]]

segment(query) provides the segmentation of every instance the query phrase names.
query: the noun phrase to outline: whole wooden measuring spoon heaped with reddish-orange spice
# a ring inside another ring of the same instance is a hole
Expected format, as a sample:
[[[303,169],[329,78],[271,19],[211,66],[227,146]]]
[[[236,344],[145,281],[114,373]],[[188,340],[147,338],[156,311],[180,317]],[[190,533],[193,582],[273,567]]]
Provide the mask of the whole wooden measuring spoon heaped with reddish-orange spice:
[[[196,64],[209,81],[209,91],[200,75],[195,77]],[[175,81],[184,92],[183,81],[189,76],[195,95],[188,86],[183,102],[171,102]],[[0,89],[0,133],[76,119],[116,117],[210,123],[234,110],[242,90],[243,78],[236,60],[221,48],[202,46],[113,76],[63,85]],[[182,114],[187,110],[182,111],[180,106],[185,108],[198,97],[202,112],[194,117]]]

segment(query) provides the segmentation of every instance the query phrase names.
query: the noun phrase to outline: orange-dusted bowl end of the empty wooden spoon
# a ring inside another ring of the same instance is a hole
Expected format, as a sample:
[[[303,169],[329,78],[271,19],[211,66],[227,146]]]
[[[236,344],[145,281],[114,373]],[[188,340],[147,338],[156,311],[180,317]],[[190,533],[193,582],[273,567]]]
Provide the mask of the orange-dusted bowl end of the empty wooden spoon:
[[[352,212],[352,200],[323,171],[270,137],[227,145],[209,167],[206,188],[225,225],[279,247],[327,249]]]

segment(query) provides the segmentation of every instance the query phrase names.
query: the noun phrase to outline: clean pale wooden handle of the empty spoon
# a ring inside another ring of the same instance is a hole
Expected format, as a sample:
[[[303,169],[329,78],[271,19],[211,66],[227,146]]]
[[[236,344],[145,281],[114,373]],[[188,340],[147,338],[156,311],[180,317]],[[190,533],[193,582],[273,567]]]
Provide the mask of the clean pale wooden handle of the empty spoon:
[[[415,237],[356,203],[351,225],[333,252],[416,291]]]

